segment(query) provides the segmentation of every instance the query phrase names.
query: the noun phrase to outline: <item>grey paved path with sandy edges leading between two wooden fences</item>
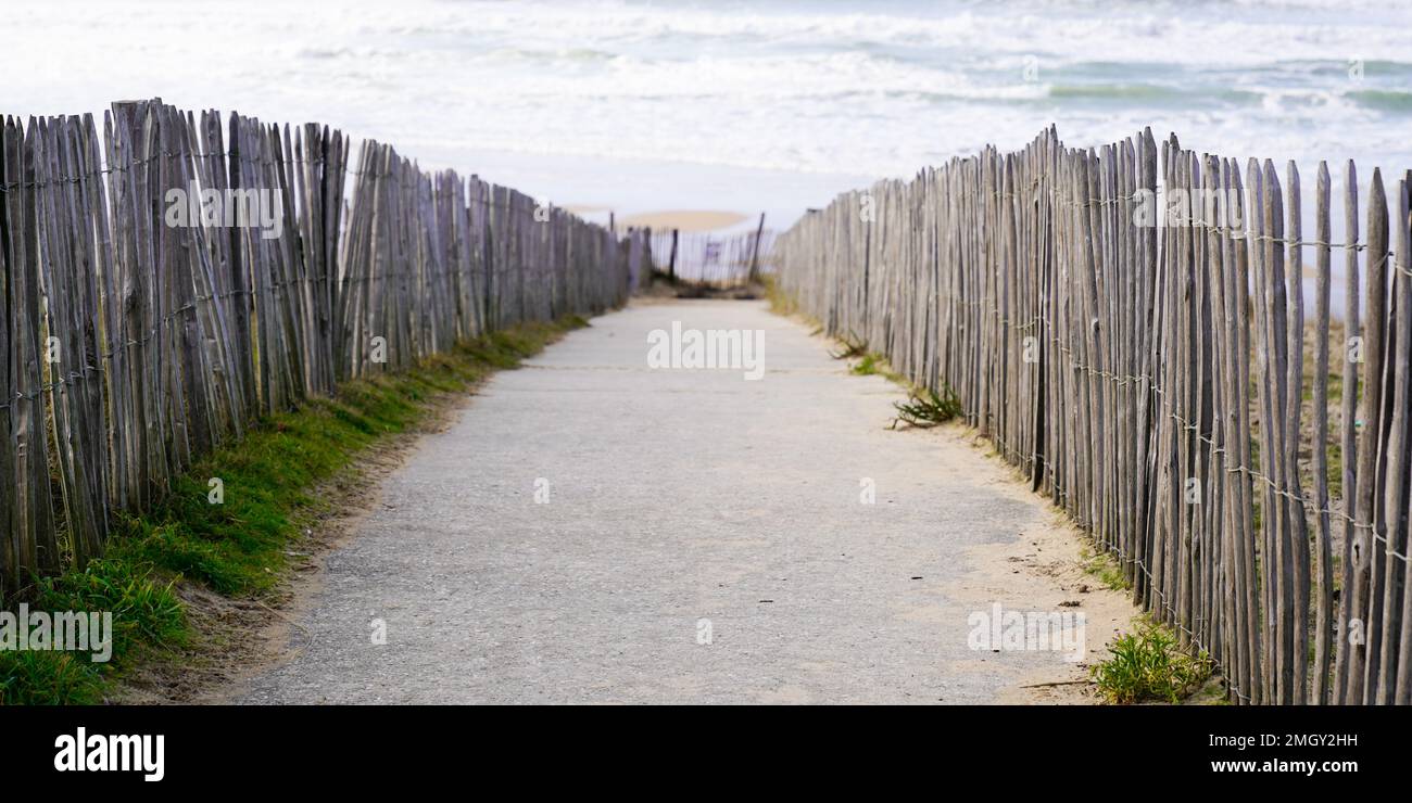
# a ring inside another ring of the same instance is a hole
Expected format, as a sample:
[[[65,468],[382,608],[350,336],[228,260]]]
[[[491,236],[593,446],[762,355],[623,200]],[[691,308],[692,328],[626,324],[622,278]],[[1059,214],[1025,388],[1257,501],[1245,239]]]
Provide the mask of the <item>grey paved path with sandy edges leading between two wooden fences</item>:
[[[764,332],[764,375],[648,333]],[[241,703],[1083,701],[1132,608],[960,426],[762,302],[641,301],[490,380],[306,580]],[[868,490],[873,501],[868,502]],[[974,649],[994,605],[1086,655]]]

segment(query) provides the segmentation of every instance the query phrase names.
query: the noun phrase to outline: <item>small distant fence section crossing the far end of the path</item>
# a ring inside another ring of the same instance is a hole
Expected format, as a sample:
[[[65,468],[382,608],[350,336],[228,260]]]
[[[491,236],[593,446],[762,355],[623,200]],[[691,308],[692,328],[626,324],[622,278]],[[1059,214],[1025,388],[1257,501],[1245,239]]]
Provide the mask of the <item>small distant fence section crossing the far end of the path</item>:
[[[764,226],[737,234],[659,230],[652,234],[652,261],[659,274],[674,281],[731,288],[768,272],[775,233]]]

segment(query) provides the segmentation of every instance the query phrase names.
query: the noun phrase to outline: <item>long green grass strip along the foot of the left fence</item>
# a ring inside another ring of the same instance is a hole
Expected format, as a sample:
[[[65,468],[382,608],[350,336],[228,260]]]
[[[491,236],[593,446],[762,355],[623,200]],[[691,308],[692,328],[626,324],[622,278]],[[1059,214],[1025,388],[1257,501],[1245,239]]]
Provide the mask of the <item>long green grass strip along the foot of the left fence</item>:
[[[107,553],[83,572],[38,580],[0,610],[112,611],[112,660],[88,653],[0,651],[0,704],[99,703],[128,669],[193,635],[178,587],[195,583],[227,597],[260,597],[284,576],[288,546],[328,502],[315,493],[381,440],[415,428],[443,394],[514,368],[565,332],[570,316],[525,323],[463,343],[401,374],[343,385],[333,398],[268,416],[244,440],[203,457],[154,509],[123,515]],[[210,480],[223,501],[212,504]]]

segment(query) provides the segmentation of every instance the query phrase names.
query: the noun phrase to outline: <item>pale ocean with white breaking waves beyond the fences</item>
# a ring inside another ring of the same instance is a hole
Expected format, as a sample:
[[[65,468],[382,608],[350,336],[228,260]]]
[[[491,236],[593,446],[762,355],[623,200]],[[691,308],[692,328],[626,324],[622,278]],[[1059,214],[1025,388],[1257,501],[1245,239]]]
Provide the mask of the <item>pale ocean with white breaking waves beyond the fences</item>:
[[[561,205],[806,207],[1151,126],[1312,176],[1412,167],[1412,8],[1363,0],[10,3],[0,113],[316,120]],[[1336,188],[1337,192],[1337,188]]]

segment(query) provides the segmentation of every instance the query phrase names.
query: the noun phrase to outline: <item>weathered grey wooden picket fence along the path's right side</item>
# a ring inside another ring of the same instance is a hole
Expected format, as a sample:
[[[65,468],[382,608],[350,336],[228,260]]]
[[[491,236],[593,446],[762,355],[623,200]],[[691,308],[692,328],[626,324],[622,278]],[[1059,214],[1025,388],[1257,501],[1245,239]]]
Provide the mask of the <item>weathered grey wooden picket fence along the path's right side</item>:
[[[1309,231],[1293,164],[1282,183],[1175,135],[1093,151],[1051,128],[842,195],[774,257],[829,333],[952,388],[1234,700],[1405,704],[1408,181],[1389,229],[1381,176],[1360,212],[1348,162],[1339,243],[1326,165],[1313,183]]]

